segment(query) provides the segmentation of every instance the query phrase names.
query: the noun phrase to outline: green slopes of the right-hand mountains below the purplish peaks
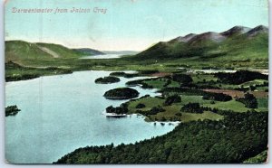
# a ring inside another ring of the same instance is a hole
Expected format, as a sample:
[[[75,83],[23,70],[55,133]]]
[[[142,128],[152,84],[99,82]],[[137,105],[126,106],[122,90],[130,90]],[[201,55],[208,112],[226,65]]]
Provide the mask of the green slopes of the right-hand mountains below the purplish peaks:
[[[268,58],[268,33],[228,37],[224,42],[199,40],[197,42],[159,42],[133,57],[135,60],[177,60],[193,58],[194,61],[252,61]],[[187,59],[189,60],[189,59]],[[225,62],[226,63],[226,62]],[[228,67],[228,66],[227,66]]]

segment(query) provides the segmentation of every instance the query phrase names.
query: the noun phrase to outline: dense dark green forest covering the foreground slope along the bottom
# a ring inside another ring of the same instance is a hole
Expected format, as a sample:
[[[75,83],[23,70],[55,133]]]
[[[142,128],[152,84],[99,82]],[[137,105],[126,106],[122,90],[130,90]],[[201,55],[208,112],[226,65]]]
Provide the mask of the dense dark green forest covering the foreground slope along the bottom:
[[[228,113],[133,145],[79,148],[56,163],[243,163],[267,149],[267,128],[267,112]]]

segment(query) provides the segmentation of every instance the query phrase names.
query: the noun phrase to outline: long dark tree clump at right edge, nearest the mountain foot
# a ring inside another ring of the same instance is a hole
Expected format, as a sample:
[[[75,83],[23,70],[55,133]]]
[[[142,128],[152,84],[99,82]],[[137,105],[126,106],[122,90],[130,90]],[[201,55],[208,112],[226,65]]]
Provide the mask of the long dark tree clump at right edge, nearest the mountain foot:
[[[219,79],[219,82],[228,84],[242,84],[244,82],[254,79],[268,79],[267,75],[261,74],[256,71],[238,70],[235,73],[219,72],[215,74],[215,77]]]

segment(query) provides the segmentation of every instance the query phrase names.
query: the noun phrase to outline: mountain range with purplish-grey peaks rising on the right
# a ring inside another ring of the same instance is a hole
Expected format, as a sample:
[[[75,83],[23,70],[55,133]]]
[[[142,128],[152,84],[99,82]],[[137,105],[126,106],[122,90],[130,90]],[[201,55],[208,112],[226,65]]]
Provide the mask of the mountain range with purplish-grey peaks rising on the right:
[[[268,59],[268,28],[263,25],[253,29],[235,26],[223,33],[189,33],[169,42],[158,42],[133,56],[133,59],[169,60],[190,57],[199,61]]]

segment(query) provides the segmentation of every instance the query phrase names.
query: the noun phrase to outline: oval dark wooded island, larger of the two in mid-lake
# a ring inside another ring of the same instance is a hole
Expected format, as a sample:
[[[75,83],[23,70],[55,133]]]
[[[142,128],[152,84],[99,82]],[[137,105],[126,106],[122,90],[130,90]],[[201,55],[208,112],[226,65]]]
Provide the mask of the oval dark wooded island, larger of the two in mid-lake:
[[[139,92],[131,88],[110,89],[104,94],[104,97],[109,99],[128,99],[137,98],[138,96]]]

